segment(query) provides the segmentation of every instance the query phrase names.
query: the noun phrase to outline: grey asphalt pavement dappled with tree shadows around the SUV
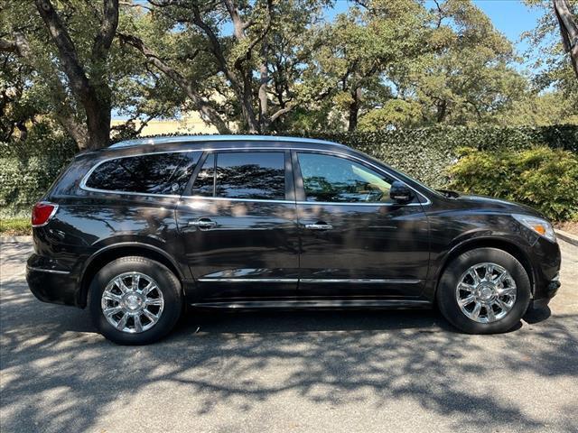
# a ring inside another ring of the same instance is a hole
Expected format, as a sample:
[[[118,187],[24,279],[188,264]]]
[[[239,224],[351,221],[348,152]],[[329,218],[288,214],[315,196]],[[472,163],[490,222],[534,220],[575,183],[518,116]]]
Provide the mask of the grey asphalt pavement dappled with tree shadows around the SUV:
[[[7,432],[578,431],[578,248],[550,311],[499,336],[434,311],[203,313],[163,342],[108,343],[0,257]],[[548,317],[550,316],[550,317]]]

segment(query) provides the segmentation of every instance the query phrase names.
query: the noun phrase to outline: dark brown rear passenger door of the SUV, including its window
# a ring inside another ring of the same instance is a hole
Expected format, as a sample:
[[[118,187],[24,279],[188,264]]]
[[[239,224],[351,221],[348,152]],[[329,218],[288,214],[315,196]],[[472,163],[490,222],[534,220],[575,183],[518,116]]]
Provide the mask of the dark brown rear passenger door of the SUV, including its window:
[[[176,208],[194,302],[294,298],[299,236],[290,152],[215,151]]]

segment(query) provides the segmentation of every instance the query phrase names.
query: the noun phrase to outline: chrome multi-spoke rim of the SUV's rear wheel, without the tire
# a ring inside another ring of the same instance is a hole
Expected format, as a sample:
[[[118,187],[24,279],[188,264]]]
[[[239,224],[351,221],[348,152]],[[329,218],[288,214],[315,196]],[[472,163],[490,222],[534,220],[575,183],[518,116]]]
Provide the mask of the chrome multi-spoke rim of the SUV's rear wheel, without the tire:
[[[125,272],[108,282],[100,299],[102,313],[119,331],[144,332],[163,314],[163,292],[156,281],[141,272]]]

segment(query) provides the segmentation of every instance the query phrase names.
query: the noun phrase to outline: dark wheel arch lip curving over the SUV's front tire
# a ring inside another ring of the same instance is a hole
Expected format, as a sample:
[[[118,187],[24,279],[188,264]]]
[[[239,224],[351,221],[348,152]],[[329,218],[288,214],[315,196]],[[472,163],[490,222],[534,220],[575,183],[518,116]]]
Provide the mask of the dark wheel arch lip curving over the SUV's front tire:
[[[494,237],[475,238],[455,245],[452,250],[446,254],[442,265],[438,268],[438,272],[435,275],[435,293],[437,293],[443,272],[445,272],[447,266],[452,263],[452,260],[462,253],[466,253],[477,248],[496,248],[511,254],[519,263],[522,264],[526,270],[527,276],[530,279],[530,289],[532,291],[532,296],[534,296],[536,275],[534,266],[530,262],[528,254],[514,242],[510,242],[509,240],[505,240],[503,238]]]

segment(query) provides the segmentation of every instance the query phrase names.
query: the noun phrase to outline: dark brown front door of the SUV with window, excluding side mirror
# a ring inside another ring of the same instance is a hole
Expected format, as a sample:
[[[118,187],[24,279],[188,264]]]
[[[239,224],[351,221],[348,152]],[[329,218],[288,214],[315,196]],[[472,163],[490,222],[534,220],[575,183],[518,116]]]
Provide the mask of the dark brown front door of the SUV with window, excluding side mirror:
[[[293,161],[300,297],[418,297],[427,278],[429,240],[417,194],[405,205],[394,203],[394,178],[350,155],[296,151]]]

